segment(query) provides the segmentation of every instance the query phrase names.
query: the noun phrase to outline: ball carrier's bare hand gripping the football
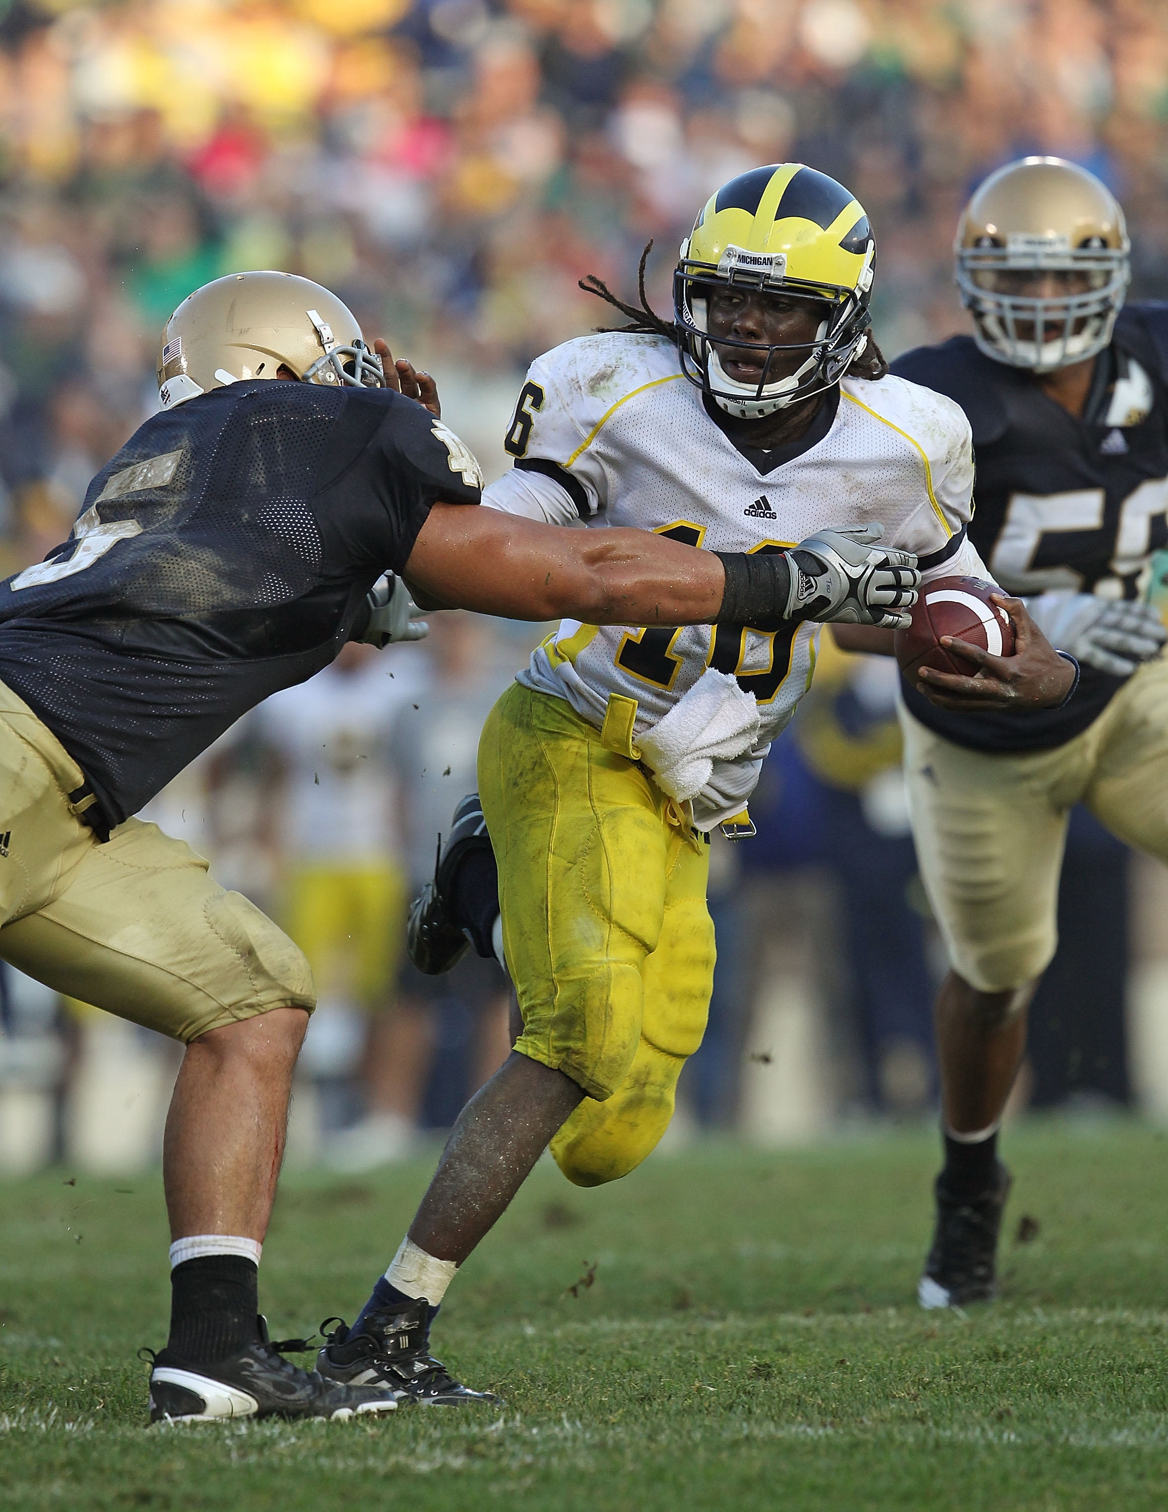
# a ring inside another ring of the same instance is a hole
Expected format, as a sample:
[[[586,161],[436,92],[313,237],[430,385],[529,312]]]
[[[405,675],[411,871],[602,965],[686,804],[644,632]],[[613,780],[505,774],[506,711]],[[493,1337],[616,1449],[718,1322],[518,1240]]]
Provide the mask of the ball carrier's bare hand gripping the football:
[[[922,667],[917,671],[920,691],[929,703],[963,714],[976,714],[979,709],[1011,709],[1018,714],[1027,709],[1056,709],[1067,702],[1077,683],[1074,662],[1059,656],[1021,599],[996,593],[993,602],[1002,605],[1014,624],[1014,655],[991,656],[981,646],[943,635],[941,646],[950,656],[970,662],[970,674],[958,677],[934,667]]]

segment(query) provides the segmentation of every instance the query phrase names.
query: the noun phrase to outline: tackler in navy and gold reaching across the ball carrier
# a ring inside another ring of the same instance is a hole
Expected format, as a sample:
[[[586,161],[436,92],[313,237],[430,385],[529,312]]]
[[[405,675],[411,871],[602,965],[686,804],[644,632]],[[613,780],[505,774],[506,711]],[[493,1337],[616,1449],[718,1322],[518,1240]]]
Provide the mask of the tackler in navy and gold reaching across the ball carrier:
[[[387,567],[520,618],[716,621],[725,602],[740,617],[745,556],[467,508],[479,464],[414,402],[437,410],[432,383],[382,358],[305,278],[205,284],[163,333],[162,413],[89,484],[70,538],[0,584],[0,956],[187,1046],[163,1151],[172,1314],[154,1420],[348,1417],[396,1396],[298,1370],[257,1328],[308,965],[130,815],[349,640],[417,637]],[[781,612],[789,590],[772,569],[760,606]]]

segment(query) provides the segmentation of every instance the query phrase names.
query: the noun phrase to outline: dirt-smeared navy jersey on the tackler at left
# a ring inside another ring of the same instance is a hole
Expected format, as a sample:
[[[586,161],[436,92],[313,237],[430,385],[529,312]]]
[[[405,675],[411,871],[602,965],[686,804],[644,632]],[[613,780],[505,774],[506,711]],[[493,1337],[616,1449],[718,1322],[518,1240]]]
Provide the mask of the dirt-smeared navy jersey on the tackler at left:
[[[387,389],[199,395],[147,420],[70,540],[0,582],[0,680],[118,824],[332,661],[431,507],[477,503],[479,487],[462,443]]]

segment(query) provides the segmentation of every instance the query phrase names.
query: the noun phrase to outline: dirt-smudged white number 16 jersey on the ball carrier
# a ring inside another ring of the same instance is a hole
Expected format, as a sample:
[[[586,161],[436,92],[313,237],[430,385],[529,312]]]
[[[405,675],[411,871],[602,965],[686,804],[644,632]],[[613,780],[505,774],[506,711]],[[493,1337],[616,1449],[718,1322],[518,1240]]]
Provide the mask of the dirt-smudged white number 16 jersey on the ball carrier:
[[[963,410],[902,378],[845,378],[804,437],[745,455],[706,411],[660,336],[565,342],[527,372],[506,449],[515,466],[484,503],[561,525],[638,526],[707,550],[795,546],[825,526],[884,525],[926,576],[985,575],[966,541],[973,446]],[[597,729],[609,697],[636,700],[644,735],[707,667],[752,692],[755,770],[811,682],[819,626],[623,629],[565,620],[520,680]],[[716,821],[715,821],[716,823]]]

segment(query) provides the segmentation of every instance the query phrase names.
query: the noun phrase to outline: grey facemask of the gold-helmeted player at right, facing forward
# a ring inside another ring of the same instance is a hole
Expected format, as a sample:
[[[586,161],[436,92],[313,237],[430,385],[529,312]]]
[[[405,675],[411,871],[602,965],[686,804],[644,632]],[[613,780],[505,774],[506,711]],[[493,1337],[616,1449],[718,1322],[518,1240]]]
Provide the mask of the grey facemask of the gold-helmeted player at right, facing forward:
[[[1006,271],[1088,274],[1102,283],[1083,293],[1038,298],[999,293],[978,281]],[[973,314],[978,346],[996,361],[1035,372],[1053,372],[1102,352],[1111,342],[1130,277],[1126,246],[1024,256],[1005,246],[963,246],[956,254],[956,286]],[[1018,334],[1023,325],[1032,327],[1030,336]]]

